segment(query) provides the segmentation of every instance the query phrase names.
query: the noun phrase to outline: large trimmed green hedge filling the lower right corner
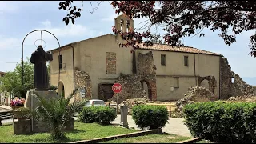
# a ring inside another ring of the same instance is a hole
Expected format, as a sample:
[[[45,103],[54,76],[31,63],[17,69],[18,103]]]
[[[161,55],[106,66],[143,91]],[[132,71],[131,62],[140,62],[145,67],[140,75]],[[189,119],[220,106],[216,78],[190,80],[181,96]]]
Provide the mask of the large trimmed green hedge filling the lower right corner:
[[[184,109],[194,137],[211,142],[256,142],[256,103],[198,102]]]

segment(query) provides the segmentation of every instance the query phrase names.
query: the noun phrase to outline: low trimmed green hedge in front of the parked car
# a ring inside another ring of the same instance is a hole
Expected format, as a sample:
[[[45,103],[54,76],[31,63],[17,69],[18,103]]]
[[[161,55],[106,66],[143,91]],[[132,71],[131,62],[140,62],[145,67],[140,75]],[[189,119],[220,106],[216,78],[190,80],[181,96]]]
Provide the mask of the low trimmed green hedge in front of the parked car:
[[[109,125],[115,118],[117,118],[115,110],[108,106],[84,107],[82,112],[78,114],[80,122],[98,122],[102,125]]]

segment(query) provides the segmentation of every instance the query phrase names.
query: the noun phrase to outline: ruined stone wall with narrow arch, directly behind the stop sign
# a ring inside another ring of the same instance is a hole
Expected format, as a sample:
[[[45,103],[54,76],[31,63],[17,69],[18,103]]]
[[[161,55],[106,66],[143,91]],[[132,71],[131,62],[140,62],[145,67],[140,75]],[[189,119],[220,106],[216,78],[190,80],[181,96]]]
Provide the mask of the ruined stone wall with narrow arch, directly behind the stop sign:
[[[136,74],[120,74],[116,82],[122,85],[122,92],[120,94],[114,94],[110,101],[116,102],[118,97],[118,103],[131,98],[147,98],[153,101],[157,100],[157,87],[153,54],[150,51],[146,54],[139,53],[137,56]],[[146,82],[146,90],[143,90],[142,82]]]

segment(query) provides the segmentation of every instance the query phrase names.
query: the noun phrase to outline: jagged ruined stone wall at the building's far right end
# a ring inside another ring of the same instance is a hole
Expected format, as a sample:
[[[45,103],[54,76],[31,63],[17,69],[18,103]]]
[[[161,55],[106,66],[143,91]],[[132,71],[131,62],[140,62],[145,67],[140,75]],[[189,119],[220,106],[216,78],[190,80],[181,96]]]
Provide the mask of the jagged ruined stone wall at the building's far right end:
[[[239,77],[238,74],[235,74],[231,71],[231,67],[227,58],[221,58],[221,99],[227,99],[231,96],[239,96],[246,94],[253,94],[256,92],[254,86],[250,86]],[[234,78],[234,83],[232,83],[232,78]]]

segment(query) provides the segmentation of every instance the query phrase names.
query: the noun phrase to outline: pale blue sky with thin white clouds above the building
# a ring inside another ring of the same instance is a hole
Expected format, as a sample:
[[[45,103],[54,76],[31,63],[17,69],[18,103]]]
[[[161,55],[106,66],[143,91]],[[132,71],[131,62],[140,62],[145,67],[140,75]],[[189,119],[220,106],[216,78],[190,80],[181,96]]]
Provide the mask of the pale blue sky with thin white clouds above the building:
[[[90,9],[97,6],[96,2],[84,2],[82,17],[78,18],[74,25],[66,26],[62,22],[67,14],[65,10],[58,10],[58,1],[0,1],[0,71],[14,70],[15,63],[22,58],[22,40],[32,30],[49,30],[56,35],[61,46],[70,42],[81,41],[86,38],[97,37],[102,34],[112,33],[114,18],[117,14],[110,6],[110,2],[102,2],[98,10],[90,14]],[[81,2],[74,2],[81,6]],[[144,19],[134,19],[134,28],[143,24]],[[204,38],[183,38],[185,46],[193,46],[202,50],[209,50],[228,58],[232,70],[239,74],[247,83],[256,86],[256,58],[250,57],[249,38],[255,30],[244,32],[237,37],[237,42],[226,46],[218,33],[204,31]],[[46,40],[45,50],[58,47],[58,42],[50,34],[43,33]],[[24,43],[24,55],[30,54],[36,49],[34,42],[40,38],[40,33],[30,34]],[[39,42],[39,41],[38,41]],[[37,43],[36,43],[37,44]]]

